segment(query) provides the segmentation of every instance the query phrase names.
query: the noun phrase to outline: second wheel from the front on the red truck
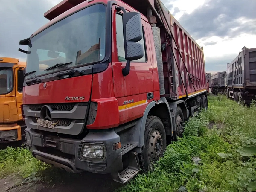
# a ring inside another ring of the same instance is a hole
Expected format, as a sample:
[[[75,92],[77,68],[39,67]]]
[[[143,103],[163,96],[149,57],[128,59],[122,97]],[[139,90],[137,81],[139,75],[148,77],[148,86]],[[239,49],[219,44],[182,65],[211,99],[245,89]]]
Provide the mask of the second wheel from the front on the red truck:
[[[181,108],[178,106],[175,113],[175,127],[173,130],[173,137],[176,139],[177,137],[182,137],[182,133],[184,131],[184,115]]]

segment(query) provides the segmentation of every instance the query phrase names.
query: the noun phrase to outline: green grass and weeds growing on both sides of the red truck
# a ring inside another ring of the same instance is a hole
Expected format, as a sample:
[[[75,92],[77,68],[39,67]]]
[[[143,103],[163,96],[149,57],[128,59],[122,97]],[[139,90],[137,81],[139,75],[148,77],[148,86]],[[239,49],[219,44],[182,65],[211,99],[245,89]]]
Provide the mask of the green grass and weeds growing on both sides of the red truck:
[[[138,174],[116,191],[176,192],[180,187],[191,192],[255,191],[255,103],[247,107],[224,96],[208,99],[207,112],[186,123],[184,136],[167,146],[154,170]],[[192,157],[201,159],[198,165]],[[41,179],[42,170],[46,174],[56,172],[49,168],[27,149],[0,150],[0,178],[13,173]],[[63,177],[59,172],[50,175]]]

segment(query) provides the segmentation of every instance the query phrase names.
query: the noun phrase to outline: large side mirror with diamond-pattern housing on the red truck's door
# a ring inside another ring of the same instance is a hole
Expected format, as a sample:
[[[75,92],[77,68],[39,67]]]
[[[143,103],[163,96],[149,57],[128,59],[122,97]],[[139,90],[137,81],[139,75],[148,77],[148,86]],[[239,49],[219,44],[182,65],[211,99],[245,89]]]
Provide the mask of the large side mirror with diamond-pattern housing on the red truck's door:
[[[143,37],[141,14],[138,12],[123,13],[123,31],[124,53],[127,62],[122,73],[126,76],[130,72],[130,62],[144,56],[143,45],[137,43]]]

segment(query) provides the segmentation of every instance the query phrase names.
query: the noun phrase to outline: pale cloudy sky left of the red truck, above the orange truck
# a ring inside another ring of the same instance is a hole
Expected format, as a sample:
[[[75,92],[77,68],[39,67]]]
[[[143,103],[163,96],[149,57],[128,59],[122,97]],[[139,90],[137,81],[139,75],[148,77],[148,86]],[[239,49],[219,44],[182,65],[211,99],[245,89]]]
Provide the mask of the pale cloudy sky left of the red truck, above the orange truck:
[[[28,38],[38,28],[48,22],[43,14],[57,4],[58,0],[0,0],[0,57],[15,57],[25,60],[26,54],[18,48],[19,40]],[[4,19],[3,19],[4,18]]]

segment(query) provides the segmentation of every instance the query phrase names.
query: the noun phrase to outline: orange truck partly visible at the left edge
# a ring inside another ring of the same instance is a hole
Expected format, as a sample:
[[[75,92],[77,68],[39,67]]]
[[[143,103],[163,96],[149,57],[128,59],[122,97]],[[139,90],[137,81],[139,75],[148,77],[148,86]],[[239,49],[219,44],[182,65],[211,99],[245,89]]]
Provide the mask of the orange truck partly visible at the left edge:
[[[19,141],[26,128],[22,118],[22,88],[26,63],[0,57],[0,144]]]

